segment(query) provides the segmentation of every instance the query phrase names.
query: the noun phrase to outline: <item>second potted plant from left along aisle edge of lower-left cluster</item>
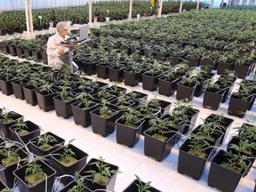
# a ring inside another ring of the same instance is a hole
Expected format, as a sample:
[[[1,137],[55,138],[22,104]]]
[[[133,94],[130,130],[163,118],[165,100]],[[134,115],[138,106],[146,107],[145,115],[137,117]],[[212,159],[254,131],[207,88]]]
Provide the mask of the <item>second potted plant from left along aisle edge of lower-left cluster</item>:
[[[40,135],[41,128],[31,121],[23,121],[23,118],[19,118],[9,130],[12,140],[26,144],[29,140]]]

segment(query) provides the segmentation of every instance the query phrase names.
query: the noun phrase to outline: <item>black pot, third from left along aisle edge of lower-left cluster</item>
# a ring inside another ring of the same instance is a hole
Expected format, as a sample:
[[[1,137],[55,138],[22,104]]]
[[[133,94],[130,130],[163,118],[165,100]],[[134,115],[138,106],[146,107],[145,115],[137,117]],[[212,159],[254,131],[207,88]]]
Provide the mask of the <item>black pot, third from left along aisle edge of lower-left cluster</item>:
[[[52,146],[52,148],[50,148],[48,150],[44,150],[43,148],[40,148],[37,145],[39,137],[43,137],[44,135],[51,135],[52,137],[54,137],[57,140],[56,142],[48,143],[49,145]],[[64,145],[65,140],[63,140],[62,138],[60,138],[59,136],[57,136],[56,134],[54,134],[52,132],[44,132],[43,135],[37,136],[36,138],[29,140],[29,142],[30,142],[30,148],[31,148],[31,151],[33,152],[33,154],[35,154],[36,156],[46,156],[46,155],[50,154],[52,151],[57,150],[58,148],[61,148]]]

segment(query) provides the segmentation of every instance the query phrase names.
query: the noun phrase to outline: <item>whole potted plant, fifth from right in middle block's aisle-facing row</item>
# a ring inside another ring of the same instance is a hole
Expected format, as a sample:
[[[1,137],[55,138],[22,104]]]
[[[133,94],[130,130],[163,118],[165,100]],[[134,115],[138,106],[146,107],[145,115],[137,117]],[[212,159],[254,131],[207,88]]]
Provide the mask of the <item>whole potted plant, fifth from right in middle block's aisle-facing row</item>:
[[[91,112],[92,132],[96,132],[103,137],[115,131],[115,121],[118,111],[108,107],[108,101],[102,100],[102,106]]]

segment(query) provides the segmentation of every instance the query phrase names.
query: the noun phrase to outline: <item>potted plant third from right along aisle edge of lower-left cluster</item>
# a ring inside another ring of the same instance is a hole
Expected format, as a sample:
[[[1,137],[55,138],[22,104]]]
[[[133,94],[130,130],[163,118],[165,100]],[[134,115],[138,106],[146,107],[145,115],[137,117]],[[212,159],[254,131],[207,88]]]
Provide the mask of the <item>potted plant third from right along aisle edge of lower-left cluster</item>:
[[[68,145],[61,147],[53,151],[51,156],[52,167],[56,170],[56,175],[76,175],[86,164],[88,154],[83,150],[76,148],[76,146],[70,144],[72,140],[68,142]]]

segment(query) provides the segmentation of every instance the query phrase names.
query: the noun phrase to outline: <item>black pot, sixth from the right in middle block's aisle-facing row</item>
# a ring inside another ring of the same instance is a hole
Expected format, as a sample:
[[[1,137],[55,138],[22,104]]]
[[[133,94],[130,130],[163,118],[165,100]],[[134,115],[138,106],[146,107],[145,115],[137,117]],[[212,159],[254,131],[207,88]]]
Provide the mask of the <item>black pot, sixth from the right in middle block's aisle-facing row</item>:
[[[84,106],[79,106],[81,101],[71,104],[72,113],[74,116],[74,121],[76,124],[81,124],[84,127],[90,126],[92,124],[91,111],[100,108],[96,102],[92,102],[90,108],[84,109]]]

